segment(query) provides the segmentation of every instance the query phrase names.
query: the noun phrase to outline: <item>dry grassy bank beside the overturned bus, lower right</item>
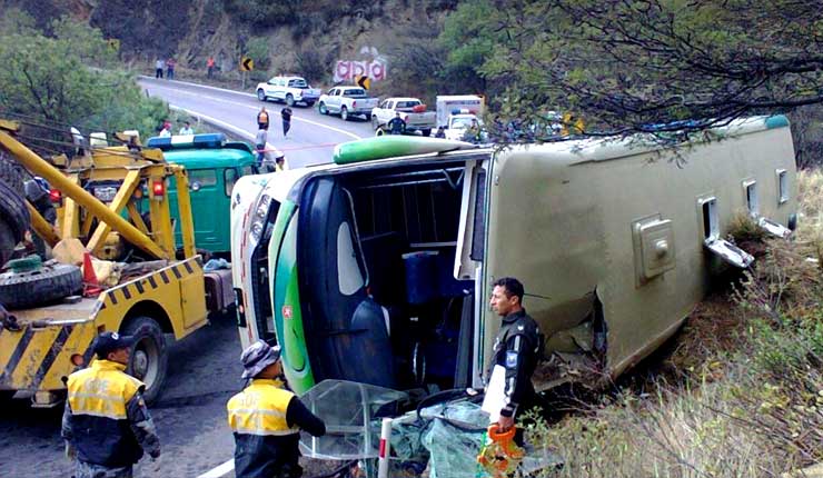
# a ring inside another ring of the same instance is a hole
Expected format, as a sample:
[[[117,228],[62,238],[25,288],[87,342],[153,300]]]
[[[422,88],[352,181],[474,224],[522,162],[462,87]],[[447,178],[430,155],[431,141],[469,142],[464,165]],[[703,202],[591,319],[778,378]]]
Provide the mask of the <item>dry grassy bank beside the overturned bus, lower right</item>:
[[[800,191],[791,241],[737,221],[755,266],[694,311],[654,374],[532,427],[565,460],[545,476],[781,477],[823,461],[823,173],[802,171]]]

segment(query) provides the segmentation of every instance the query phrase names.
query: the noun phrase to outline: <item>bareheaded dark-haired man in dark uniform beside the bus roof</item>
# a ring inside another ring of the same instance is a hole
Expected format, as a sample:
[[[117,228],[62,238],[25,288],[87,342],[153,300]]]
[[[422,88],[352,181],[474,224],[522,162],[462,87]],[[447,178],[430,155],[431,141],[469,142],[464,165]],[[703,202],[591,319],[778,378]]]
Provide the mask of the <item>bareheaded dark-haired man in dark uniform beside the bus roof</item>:
[[[497,426],[506,431],[514,426],[517,415],[539,406],[539,398],[532,385],[532,375],[543,349],[543,335],[532,317],[523,308],[523,285],[512,277],[494,283],[492,310],[503,318],[500,331],[494,345],[492,368],[505,368],[505,405],[500,409]],[[523,445],[522,430],[515,441]]]

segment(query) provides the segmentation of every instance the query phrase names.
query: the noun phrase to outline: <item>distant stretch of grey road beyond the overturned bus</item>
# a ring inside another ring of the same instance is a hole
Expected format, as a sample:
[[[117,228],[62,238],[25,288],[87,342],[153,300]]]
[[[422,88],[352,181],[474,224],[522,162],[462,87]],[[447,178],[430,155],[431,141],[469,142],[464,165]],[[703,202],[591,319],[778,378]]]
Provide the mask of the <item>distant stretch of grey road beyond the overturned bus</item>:
[[[307,108],[300,103],[291,108],[291,130],[284,139],[280,123],[282,103],[262,103],[250,93],[179,81],[141,78],[140,86],[149,96],[162,98],[172,107],[245,136],[248,141],[252,141],[257,133],[257,112],[266,106],[271,117],[269,143],[286,153],[289,168],[331,162],[335,145],[374,136],[365,119],[343,121],[339,117],[320,114],[316,107]]]

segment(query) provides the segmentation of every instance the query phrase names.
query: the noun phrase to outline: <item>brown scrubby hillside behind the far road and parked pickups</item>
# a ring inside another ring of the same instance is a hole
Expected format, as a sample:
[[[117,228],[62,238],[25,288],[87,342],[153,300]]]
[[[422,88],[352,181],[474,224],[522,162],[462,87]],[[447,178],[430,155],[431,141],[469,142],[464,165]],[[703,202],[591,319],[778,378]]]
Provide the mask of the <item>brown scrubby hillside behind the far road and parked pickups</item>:
[[[156,58],[175,57],[184,69],[205,69],[206,59],[214,56],[221,71],[234,71],[246,54],[257,63],[252,80],[289,71],[327,82],[337,60],[371,60],[376,52],[391,63],[391,54],[405,50],[400,47],[437,37],[457,0],[4,0],[0,4],[26,11],[44,30],[63,14],[88,22],[107,38],[118,39],[120,58],[139,68],[153,64]]]

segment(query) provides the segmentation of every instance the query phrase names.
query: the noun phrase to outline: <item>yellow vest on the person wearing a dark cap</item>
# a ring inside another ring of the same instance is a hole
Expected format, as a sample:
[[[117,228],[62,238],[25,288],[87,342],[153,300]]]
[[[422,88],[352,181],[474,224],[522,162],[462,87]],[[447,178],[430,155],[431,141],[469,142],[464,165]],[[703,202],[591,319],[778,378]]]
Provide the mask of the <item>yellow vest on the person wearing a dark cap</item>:
[[[143,384],[125,370],[122,364],[95,360],[91,367],[71,374],[68,381],[71,412],[126,419],[126,404]]]

